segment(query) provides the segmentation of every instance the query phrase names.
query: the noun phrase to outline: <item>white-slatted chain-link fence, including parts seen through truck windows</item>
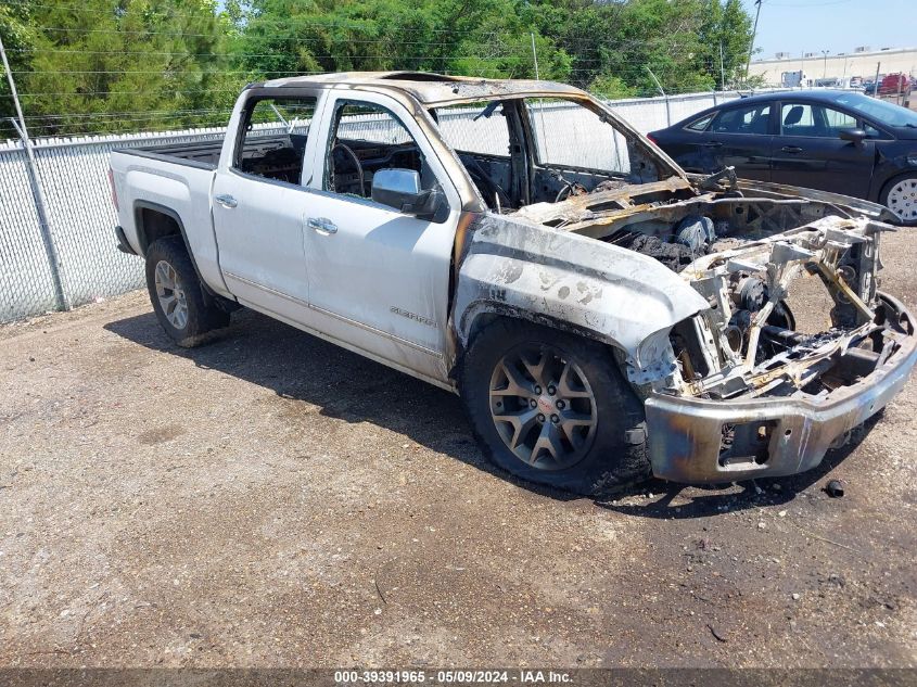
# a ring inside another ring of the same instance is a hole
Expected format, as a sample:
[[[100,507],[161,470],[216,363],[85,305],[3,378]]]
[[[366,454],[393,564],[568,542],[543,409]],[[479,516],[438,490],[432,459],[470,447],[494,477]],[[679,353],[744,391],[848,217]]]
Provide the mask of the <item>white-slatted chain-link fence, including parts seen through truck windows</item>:
[[[650,98],[611,102],[612,109],[646,133],[664,128],[737,94],[691,93],[668,99]],[[456,148],[506,154],[506,133],[496,117],[473,122],[480,107],[457,107],[441,116],[440,126]],[[564,125],[571,106],[546,103],[543,120],[547,158],[570,150],[575,127]],[[402,131],[379,117],[358,116],[348,129],[398,142]],[[598,119],[595,126],[601,125]],[[51,237],[61,262],[61,278],[71,305],[124,293],[143,283],[143,266],[115,249],[112,228],[117,222],[107,181],[109,154],[114,148],[198,143],[224,137],[226,129],[208,128],[165,133],[95,136],[50,139],[34,143],[38,175],[48,204]],[[394,137],[394,138],[393,138]],[[380,139],[381,140],[381,139]],[[621,137],[598,147],[587,166],[626,169],[627,150]],[[51,310],[54,290],[41,242],[38,216],[30,191],[26,155],[18,142],[0,143],[0,322]]]

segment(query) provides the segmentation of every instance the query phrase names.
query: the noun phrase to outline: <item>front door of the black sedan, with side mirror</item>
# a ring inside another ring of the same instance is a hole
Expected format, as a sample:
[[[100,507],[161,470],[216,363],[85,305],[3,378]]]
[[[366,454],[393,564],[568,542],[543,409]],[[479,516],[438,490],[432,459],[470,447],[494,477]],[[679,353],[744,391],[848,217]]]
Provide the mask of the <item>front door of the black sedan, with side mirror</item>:
[[[876,143],[844,141],[840,132],[864,126],[855,115],[819,103],[779,103],[772,180],[807,189],[867,198]]]

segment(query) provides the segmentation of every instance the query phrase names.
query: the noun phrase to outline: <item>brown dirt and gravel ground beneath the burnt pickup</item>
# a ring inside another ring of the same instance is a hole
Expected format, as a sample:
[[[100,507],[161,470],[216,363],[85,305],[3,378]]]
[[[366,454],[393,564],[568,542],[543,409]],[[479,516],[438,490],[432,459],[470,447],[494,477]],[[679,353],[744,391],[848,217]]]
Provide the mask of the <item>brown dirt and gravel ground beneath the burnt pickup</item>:
[[[917,665],[914,382],[813,472],[596,501],[253,313],[188,352],[133,293],[0,328],[0,370],[2,665]]]

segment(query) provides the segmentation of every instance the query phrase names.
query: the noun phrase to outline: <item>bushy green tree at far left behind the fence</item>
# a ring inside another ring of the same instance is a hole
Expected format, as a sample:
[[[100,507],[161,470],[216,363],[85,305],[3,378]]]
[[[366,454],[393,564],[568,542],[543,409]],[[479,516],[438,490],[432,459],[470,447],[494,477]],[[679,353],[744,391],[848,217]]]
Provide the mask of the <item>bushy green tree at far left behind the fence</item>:
[[[215,0],[36,2],[29,20],[16,85],[36,135],[179,128],[234,99]]]

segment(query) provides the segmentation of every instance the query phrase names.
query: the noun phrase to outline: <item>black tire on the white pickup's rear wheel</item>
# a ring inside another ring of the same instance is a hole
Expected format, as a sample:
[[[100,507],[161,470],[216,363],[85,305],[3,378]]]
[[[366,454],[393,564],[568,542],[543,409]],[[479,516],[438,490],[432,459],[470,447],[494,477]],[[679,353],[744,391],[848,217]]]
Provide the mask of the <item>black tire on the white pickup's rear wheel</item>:
[[[170,319],[164,309],[163,298],[157,293],[156,269],[161,263],[169,266],[178,278],[177,288],[166,289],[164,293],[165,297],[168,297],[170,293],[182,304],[187,313],[183,321],[180,318],[174,321],[176,319],[174,311]],[[198,272],[194,271],[194,265],[188,256],[181,237],[160,239],[147,250],[147,289],[150,292],[150,302],[153,304],[156,319],[179,346],[184,348],[199,346],[209,341],[214,332],[229,323],[227,313],[217,308],[212,302],[205,301],[201,281],[198,279]]]

